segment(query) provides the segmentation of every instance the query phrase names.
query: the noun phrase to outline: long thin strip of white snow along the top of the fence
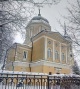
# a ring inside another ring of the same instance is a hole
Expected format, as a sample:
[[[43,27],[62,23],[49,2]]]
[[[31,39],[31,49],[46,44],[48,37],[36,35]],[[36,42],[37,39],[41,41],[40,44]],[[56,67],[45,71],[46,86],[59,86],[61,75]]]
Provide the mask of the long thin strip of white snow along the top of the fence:
[[[2,73],[3,74],[19,74],[19,75],[45,75],[45,76],[54,76],[54,77],[80,77],[80,75],[76,75],[76,74],[52,74],[52,75],[49,75],[47,73],[0,70],[0,74],[2,74]]]

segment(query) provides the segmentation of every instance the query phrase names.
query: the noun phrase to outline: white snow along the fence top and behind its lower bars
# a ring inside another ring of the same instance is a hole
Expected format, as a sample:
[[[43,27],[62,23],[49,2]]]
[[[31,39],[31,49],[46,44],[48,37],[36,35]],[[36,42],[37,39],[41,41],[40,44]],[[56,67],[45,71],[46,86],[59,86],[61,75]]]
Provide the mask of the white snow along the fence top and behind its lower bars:
[[[75,77],[75,78],[79,78],[80,79],[80,75],[75,75],[75,74],[52,74],[52,75],[48,75],[46,73],[35,73],[35,72],[19,72],[19,71],[7,71],[7,70],[0,70],[0,74],[15,74],[15,75],[40,75],[40,76],[49,76],[49,78],[52,77]],[[2,84],[2,82],[0,83],[0,89],[48,89],[47,86],[31,86],[31,85],[23,85],[22,87],[16,87],[16,84],[14,85],[6,85],[6,84]],[[80,89],[80,85],[76,85],[76,84],[71,84],[70,88],[64,88],[60,85],[50,85],[49,89]]]

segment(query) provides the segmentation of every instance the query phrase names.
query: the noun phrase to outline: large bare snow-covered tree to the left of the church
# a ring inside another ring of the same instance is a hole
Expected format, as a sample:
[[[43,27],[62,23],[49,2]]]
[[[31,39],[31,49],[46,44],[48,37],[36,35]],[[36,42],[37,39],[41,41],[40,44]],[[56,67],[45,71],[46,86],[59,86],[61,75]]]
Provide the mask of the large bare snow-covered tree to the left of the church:
[[[5,62],[6,52],[13,44],[15,33],[24,35],[24,28],[34,14],[35,6],[59,3],[60,0],[0,0],[0,62]]]

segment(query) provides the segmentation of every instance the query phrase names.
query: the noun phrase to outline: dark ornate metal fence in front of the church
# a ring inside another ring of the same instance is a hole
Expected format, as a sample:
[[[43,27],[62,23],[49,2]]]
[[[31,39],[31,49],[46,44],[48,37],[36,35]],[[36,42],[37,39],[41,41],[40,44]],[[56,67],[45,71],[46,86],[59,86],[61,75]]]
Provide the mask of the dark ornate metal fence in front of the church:
[[[1,72],[0,89],[80,89],[80,76]]]

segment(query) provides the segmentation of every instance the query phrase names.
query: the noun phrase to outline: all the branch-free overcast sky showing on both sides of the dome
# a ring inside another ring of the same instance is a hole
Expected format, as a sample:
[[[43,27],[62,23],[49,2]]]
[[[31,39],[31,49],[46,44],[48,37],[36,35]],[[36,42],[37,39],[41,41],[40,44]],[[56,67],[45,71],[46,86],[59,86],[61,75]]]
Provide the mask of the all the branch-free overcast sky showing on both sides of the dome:
[[[69,2],[71,3],[74,3],[73,1],[75,0],[69,0]],[[63,19],[62,16],[68,15],[68,11],[66,9],[66,7],[68,6],[69,5],[67,0],[61,0],[60,3],[56,5],[53,4],[52,6],[46,5],[44,7],[41,7],[41,16],[49,21],[52,31],[58,31],[61,34],[63,34],[64,30],[60,27],[58,20],[60,20],[62,24],[64,23],[65,20]],[[38,15],[38,13],[39,13],[38,8],[36,8],[34,16]],[[15,42],[23,43],[20,34],[16,36]]]

